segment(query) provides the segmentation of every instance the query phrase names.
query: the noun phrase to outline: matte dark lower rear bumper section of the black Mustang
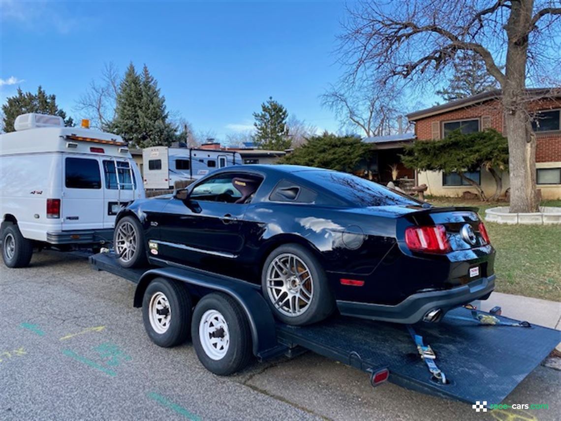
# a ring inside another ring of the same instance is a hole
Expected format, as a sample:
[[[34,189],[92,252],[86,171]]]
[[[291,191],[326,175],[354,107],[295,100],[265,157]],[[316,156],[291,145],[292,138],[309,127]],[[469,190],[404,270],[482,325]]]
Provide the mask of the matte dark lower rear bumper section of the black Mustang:
[[[480,299],[494,289],[495,275],[491,275],[449,290],[417,292],[396,305],[337,301],[337,307],[343,315],[412,324],[421,321],[429,310],[439,308],[446,313],[450,309]]]

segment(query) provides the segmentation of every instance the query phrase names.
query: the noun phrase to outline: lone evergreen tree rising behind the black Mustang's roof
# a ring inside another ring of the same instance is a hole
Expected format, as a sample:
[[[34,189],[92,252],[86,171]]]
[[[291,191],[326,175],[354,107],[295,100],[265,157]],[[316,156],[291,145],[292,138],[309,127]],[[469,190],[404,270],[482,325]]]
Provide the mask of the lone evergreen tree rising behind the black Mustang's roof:
[[[288,112],[273,97],[261,104],[261,112],[253,113],[257,133],[254,142],[260,149],[284,150],[290,148],[286,120]]]

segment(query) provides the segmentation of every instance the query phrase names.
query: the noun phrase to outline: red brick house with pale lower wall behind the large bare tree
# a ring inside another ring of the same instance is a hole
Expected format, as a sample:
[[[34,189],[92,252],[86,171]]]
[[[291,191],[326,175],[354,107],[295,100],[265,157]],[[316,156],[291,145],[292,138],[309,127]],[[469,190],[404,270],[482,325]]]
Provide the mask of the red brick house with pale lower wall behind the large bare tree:
[[[536,180],[544,199],[561,199],[561,89],[528,89],[528,110],[535,115],[532,127],[537,138]],[[548,97],[545,95],[548,94]],[[442,139],[449,131],[462,132],[493,128],[505,133],[500,90],[488,91],[439,106],[421,109],[407,115],[415,123],[416,141]],[[468,175],[466,173],[466,175]],[[479,182],[485,194],[492,195],[495,183],[486,170],[468,175]],[[461,196],[475,189],[462,182],[456,173],[418,171],[417,184],[428,186],[427,194],[436,196]],[[503,193],[509,186],[508,173],[503,173]]]

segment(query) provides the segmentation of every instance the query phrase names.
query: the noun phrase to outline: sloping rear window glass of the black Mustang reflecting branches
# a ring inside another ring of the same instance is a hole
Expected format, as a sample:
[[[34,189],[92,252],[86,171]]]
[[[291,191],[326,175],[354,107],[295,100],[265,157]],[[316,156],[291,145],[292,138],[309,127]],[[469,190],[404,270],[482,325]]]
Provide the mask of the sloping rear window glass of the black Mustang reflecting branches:
[[[342,172],[306,171],[299,176],[332,191],[358,207],[386,205],[419,205],[422,202],[373,181]]]

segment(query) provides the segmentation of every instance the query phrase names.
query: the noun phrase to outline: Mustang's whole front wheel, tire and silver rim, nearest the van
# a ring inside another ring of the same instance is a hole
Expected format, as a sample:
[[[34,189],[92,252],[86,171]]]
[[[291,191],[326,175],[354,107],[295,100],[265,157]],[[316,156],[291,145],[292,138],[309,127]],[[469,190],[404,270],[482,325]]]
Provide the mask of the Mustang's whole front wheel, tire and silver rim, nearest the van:
[[[119,219],[113,234],[113,247],[117,261],[123,268],[146,266],[144,230],[138,219],[126,216]]]

